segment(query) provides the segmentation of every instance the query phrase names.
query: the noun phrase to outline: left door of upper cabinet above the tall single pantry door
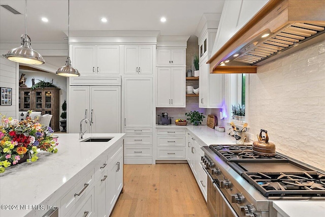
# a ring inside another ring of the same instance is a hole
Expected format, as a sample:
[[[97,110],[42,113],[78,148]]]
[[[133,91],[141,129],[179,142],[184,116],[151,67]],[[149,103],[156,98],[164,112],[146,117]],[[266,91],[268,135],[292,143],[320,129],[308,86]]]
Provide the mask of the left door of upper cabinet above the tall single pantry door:
[[[124,46],[124,74],[138,74],[138,46]]]

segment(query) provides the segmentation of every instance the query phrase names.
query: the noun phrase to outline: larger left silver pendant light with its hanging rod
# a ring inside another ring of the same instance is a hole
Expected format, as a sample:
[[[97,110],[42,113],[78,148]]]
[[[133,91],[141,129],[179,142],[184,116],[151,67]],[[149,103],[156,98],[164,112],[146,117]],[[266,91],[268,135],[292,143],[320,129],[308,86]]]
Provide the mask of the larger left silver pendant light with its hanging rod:
[[[31,48],[30,38],[27,35],[27,0],[25,0],[25,34],[21,35],[20,39],[21,46],[9,50],[3,57],[22,64],[45,64],[43,56]]]

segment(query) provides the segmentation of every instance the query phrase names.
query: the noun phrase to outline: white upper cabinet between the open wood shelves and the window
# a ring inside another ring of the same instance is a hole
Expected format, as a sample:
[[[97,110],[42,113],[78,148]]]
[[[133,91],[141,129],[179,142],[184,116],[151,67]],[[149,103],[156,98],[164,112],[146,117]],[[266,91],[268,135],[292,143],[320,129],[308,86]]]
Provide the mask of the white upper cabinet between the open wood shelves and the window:
[[[206,56],[200,63],[199,107],[221,108],[224,75],[210,74],[209,64],[206,64],[207,60],[208,56]]]

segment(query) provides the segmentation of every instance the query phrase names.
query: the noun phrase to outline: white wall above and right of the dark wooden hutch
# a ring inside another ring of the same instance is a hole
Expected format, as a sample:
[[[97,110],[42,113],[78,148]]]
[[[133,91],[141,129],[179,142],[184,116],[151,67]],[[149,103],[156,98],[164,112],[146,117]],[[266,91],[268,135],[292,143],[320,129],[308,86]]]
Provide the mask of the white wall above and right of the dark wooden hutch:
[[[27,87],[31,87],[31,79],[35,78],[35,83],[38,83],[39,80],[45,80],[48,82],[52,82],[55,84],[58,88],[60,88],[60,107],[64,100],[67,100],[67,78],[63,76],[59,76],[53,73],[47,73],[47,72],[36,72],[36,71],[29,71],[29,70],[19,70],[19,78],[21,73],[25,74],[25,84]],[[60,109],[60,114],[61,114]]]

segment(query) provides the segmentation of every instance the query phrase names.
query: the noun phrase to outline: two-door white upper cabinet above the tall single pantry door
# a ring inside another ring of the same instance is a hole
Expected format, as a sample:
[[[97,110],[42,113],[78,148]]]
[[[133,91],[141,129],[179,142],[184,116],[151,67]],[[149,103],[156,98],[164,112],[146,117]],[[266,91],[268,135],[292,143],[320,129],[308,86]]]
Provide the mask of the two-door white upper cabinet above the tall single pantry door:
[[[124,46],[124,74],[152,74],[153,47],[151,45]]]

